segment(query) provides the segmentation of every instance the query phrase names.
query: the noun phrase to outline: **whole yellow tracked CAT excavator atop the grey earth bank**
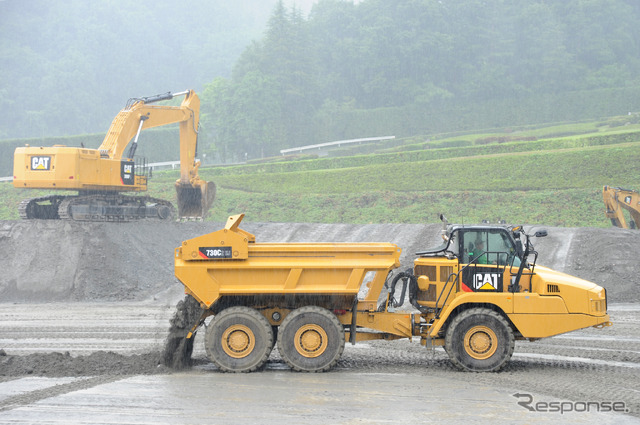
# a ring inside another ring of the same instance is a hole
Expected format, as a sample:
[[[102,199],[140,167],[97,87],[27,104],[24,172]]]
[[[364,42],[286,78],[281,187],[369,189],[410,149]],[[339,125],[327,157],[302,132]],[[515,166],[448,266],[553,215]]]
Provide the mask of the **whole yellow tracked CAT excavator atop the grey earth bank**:
[[[177,96],[184,96],[180,106],[153,105]],[[98,149],[64,145],[17,148],[14,187],[77,191],[76,195],[26,199],[19,206],[20,216],[74,221],[174,219],[175,208],[170,202],[123,192],[147,190],[150,169],[145,159],[135,157],[140,132],[179,123],[180,179],[175,183],[178,215],[204,217],[215,198],[216,187],[198,176],[200,161],[195,157],[199,114],[200,99],[193,90],[132,98],[115,117]]]

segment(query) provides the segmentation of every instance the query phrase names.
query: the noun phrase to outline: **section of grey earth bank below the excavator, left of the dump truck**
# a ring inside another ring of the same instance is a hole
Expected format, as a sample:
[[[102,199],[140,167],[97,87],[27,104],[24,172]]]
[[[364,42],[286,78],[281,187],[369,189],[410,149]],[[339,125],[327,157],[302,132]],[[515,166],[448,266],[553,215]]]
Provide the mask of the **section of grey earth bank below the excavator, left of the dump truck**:
[[[149,298],[178,285],[173,250],[184,239],[206,233],[207,227],[204,223],[2,222],[0,297],[14,302]]]

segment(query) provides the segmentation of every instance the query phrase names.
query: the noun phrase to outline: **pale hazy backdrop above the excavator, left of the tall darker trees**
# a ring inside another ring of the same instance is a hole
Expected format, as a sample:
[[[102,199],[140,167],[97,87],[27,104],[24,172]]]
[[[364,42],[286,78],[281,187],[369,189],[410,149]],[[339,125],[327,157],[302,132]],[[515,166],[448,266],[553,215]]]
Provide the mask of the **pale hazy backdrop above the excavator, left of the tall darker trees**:
[[[199,91],[230,75],[272,8],[263,0],[0,0],[0,139],[104,133],[131,97]]]

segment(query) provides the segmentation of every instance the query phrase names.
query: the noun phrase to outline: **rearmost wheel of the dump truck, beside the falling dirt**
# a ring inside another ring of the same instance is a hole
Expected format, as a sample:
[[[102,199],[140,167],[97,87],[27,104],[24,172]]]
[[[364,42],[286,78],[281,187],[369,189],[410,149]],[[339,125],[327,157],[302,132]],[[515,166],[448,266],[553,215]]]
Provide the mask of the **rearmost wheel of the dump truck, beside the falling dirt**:
[[[205,334],[211,361],[224,372],[253,372],[264,366],[273,348],[269,321],[249,307],[230,307],[217,314]]]

